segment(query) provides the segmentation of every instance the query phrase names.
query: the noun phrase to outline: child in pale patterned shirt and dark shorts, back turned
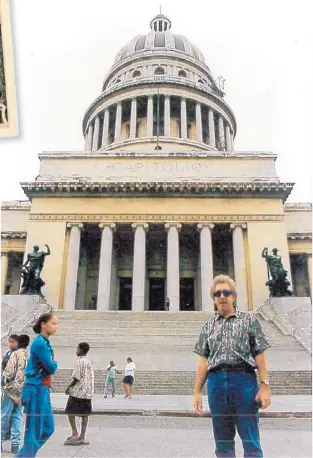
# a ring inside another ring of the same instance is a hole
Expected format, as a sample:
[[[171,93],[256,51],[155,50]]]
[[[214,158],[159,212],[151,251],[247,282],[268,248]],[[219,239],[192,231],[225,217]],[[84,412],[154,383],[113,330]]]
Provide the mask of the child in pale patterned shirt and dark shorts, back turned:
[[[94,371],[91,362],[86,357],[90,346],[81,342],[76,347],[77,363],[72,373],[72,381],[65,390],[69,395],[65,413],[72,430],[72,435],[66,439],[64,445],[89,445],[86,442],[88,416],[92,413],[91,398],[94,394]],[[82,418],[81,432],[78,434],[75,417]]]

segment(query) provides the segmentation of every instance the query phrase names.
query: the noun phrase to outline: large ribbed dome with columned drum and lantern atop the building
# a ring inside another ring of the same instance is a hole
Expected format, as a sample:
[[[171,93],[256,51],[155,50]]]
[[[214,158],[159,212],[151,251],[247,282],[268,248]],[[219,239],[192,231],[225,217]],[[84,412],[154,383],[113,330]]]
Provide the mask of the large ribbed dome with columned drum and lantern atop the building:
[[[117,54],[84,116],[85,149],[233,151],[236,120],[201,51],[164,15],[150,28]]]

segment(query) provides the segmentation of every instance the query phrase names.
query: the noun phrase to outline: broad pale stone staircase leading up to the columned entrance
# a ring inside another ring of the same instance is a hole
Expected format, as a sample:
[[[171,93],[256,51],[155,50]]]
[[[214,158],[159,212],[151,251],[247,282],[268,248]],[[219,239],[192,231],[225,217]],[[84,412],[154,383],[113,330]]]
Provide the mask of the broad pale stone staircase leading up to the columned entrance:
[[[266,351],[274,394],[311,393],[311,356],[292,336],[257,314],[272,347]],[[75,347],[89,342],[101,393],[103,369],[113,359],[123,369],[127,356],[136,362],[137,394],[191,394],[197,355],[192,350],[207,319],[203,312],[57,311],[58,332],[52,340],[60,370],[56,391],[64,391],[75,363]],[[28,329],[33,335],[31,329]],[[117,380],[121,390],[121,377]]]

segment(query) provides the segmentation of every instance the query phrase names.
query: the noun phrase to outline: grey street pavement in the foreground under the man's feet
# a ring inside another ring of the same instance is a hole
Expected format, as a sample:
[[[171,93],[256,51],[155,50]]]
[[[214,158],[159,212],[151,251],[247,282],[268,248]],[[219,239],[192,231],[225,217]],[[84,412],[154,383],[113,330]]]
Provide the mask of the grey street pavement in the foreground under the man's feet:
[[[105,416],[90,418],[89,446],[70,447],[65,415],[56,415],[56,432],[38,457],[214,457],[212,423],[209,418]],[[309,458],[312,456],[310,419],[260,420],[266,458]],[[236,439],[237,457],[243,457]],[[4,454],[6,456],[6,454]]]

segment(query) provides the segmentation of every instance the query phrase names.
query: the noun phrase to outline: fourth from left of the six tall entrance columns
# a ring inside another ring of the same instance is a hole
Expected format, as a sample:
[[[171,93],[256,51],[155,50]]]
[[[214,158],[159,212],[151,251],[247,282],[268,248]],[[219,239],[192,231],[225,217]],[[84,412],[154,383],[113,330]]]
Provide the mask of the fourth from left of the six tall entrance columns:
[[[166,290],[170,300],[170,312],[179,312],[179,230],[181,224],[165,224],[167,230]]]

